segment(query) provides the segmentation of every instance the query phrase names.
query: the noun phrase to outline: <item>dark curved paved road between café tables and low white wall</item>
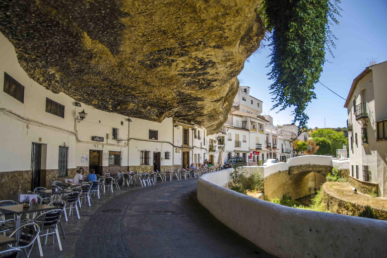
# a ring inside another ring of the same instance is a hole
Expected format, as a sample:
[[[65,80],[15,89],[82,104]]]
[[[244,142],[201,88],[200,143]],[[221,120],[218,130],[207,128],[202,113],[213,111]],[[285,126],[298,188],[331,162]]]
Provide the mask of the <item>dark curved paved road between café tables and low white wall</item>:
[[[48,244],[44,257],[274,257],[201,206],[196,184],[187,179],[124,186],[94,199],[80,220],[64,222],[63,251]],[[38,256],[35,246],[31,257]]]

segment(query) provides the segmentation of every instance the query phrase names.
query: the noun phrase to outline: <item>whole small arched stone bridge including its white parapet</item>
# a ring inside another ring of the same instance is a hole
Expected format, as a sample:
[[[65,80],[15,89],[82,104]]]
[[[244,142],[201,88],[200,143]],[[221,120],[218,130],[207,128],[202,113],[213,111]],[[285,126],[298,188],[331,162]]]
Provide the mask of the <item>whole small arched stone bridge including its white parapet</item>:
[[[265,197],[272,200],[284,195],[293,199],[310,196],[326,181],[332,167],[332,157],[318,155],[295,157],[284,163],[259,167],[265,176]]]

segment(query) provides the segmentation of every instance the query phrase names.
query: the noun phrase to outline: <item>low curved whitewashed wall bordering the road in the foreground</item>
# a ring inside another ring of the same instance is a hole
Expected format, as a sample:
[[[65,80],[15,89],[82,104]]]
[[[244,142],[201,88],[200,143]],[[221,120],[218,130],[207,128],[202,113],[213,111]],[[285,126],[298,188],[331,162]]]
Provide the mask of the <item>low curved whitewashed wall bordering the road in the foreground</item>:
[[[198,200],[218,220],[283,257],[385,257],[387,222],[265,202],[221,187],[232,169],[204,174]]]

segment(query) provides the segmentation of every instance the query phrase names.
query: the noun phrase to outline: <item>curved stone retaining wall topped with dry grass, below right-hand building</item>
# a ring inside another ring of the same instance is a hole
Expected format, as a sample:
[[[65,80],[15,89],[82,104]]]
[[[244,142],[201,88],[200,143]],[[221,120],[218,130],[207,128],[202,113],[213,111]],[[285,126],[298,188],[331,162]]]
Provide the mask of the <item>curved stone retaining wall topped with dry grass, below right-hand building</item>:
[[[334,187],[330,187],[330,184],[332,183],[330,182],[322,185],[322,203],[324,204],[324,208],[326,210],[337,214],[359,216],[364,208],[369,205],[379,219],[387,220],[387,208],[378,208],[372,205],[372,203],[359,204],[344,200],[344,197],[340,198],[340,193],[335,192]],[[375,202],[376,201],[377,200],[375,200]]]

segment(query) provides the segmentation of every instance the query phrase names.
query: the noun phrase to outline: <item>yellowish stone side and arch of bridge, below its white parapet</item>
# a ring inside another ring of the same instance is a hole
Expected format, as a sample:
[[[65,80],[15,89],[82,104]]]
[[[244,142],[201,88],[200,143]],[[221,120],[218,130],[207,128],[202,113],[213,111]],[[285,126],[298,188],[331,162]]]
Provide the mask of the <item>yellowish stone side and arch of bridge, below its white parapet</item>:
[[[274,198],[281,200],[287,195],[299,199],[316,193],[325,181],[326,177],[316,172],[297,173],[290,178],[287,170],[279,171],[265,177],[265,198],[269,201]]]

